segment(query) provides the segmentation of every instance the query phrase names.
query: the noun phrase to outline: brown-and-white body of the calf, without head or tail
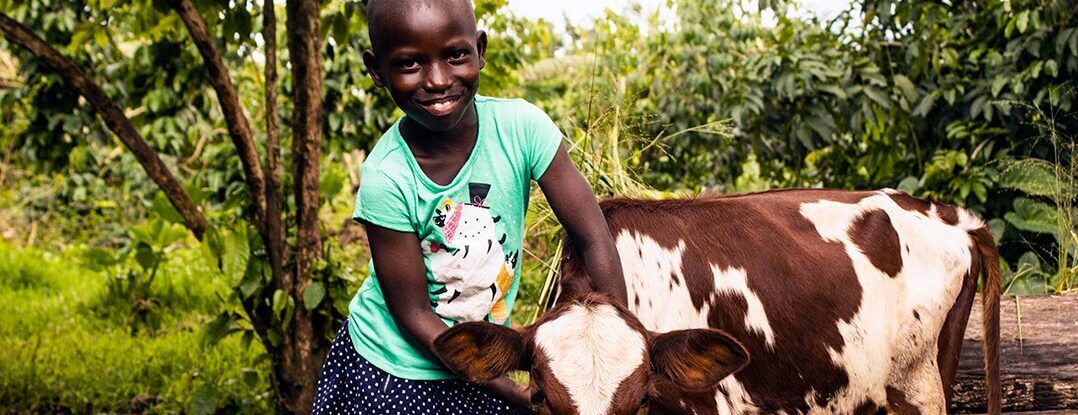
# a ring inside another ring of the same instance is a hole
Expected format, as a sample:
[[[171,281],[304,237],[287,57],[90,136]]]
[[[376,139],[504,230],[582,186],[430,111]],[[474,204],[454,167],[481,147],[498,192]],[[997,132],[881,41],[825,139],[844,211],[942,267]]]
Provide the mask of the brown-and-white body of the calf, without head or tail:
[[[628,307],[647,329],[720,329],[751,355],[718,396],[680,410],[859,413],[941,399],[892,385],[938,389],[936,345],[976,262],[968,232],[983,224],[975,217],[893,191],[600,206]],[[567,255],[571,290],[586,279],[571,247]]]

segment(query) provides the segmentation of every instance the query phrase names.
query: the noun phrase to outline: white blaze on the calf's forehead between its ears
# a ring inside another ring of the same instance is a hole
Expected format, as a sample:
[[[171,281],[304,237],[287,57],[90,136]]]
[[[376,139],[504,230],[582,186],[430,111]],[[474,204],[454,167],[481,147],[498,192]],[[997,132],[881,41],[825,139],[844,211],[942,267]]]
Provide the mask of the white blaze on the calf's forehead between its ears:
[[[535,342],[581,415],[606,414],[618,386],[644,364],[644,335],[610,305],[572,305],[539,326]]]

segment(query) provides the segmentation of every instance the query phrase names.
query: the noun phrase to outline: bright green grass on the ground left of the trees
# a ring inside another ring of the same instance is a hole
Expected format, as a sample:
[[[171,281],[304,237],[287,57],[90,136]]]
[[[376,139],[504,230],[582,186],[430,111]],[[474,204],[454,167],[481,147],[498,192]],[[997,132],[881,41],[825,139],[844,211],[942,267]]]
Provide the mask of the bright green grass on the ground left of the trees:
[[[261,345],[202,344],[224,287],[208,269],[174,252],[151,289],[156,327],[133,335],[106,273],[0,243],[0,413],[130,413],[140,396],[147,413],[271,412]]]

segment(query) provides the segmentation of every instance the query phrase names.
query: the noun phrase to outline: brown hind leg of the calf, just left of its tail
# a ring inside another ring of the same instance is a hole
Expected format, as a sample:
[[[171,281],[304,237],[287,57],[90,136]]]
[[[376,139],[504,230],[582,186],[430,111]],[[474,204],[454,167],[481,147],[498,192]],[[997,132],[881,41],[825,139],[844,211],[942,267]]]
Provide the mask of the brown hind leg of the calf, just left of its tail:
[[[952,386],[958,371],[958,360],[962,357],[962,340],[966,334],[966,323],[969,320],[969,309],[973,306],[973,294],[977,292],[977,275],[980,274],[980,259],[977,250],[971,251],[972,266],[962,280],[962,291],[943,321],[938,343],[936,362],[940,368],[940,378],[943,382],[943,397],[948,407],[951,406]]]

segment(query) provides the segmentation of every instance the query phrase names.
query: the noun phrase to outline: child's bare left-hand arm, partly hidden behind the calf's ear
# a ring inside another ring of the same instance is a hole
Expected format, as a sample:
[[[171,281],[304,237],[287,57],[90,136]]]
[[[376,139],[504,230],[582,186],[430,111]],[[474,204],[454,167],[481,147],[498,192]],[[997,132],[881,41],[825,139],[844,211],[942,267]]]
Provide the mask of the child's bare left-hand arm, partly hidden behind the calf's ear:
[[[427,269],[423,263],[419,239],[413,233],[397,232],[367,223],[368,240],[378,287],[386,299],[386,307],[405,333],[419,342],[429,356],[434,338],[448,327],[430,308],[427,289]],[[501,377],[486,385],[487,390],[507,403],[524,409],[528,397],[524,388],[509,377]]]

